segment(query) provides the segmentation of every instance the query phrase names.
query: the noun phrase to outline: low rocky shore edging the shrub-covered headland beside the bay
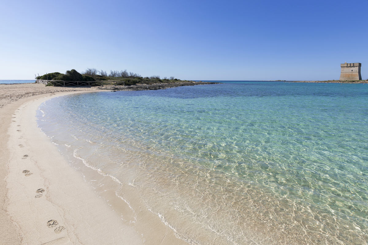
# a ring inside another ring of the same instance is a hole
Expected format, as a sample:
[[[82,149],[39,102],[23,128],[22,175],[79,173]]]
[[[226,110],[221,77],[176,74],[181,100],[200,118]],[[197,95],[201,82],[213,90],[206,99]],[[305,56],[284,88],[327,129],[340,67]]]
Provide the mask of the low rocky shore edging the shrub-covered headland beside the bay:
[[[194,85],[204,85],[204,84],[219,84],[219,83],[214,83],[214,82],[177,82],[177,83],[153,83],[153,84],[137,83],[131,86],[105,85],[103,87],[96,87],[96,89],[112,90],[112,91],[121,91],[121,90],[138,91],[138,90],[169,89],[173,87],[194,86]]]

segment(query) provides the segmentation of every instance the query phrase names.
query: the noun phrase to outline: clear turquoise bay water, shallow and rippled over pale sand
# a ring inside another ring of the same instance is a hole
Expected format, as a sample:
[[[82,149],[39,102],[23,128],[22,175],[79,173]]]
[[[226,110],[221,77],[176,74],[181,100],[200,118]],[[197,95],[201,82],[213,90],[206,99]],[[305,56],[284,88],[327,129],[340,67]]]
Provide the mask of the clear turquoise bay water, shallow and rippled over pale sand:
[[[77,94],[38,125],[189,244],[368,243],[368,84]]]

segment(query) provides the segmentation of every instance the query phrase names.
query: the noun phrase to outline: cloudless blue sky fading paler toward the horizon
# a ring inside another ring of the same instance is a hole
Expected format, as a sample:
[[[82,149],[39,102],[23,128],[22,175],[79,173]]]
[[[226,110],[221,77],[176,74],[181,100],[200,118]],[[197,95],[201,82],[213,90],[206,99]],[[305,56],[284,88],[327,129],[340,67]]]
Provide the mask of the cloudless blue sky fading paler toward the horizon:
[[[368,0],[6,1],[0,79],[86,68],[192,80],[368,79]]]

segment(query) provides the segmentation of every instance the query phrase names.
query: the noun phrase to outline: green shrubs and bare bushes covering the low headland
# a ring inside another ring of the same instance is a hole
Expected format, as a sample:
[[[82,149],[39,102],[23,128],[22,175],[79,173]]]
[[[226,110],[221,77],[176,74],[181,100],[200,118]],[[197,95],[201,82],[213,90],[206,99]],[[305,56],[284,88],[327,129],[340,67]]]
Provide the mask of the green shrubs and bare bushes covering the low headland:
[[[106,71],[98,71],[95,68],[87,68],[84,72],[79,73],[75,69],[66,71],[65,74],[60,72],[48,73],[42,76],[38,76],[36,79],[42,80],[61,80],[61,81],[99,81],[99,84],[116,84],[131,86],[134,84],[154,84],[154,83],[175,83],[184,82],[180,79],[176,79],[173,76],[170,78],[161,78],[158,75],[143,78],[138,73],[128,72],[126,69],[121,71],[111,70],[109,74]]]

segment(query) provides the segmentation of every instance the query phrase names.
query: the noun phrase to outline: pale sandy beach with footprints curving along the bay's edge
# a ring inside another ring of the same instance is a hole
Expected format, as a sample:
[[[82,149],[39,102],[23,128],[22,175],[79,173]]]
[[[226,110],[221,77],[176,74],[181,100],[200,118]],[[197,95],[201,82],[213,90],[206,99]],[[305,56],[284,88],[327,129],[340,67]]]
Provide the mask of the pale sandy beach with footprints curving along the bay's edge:
[[[42,102],[93,91],[0,84],[0,244],[186,244],[159,217],[138,207],[132,213],[114,195],[117,183],[71,167],[37,127]],[[96,191],[88,176],[105,190]]]

